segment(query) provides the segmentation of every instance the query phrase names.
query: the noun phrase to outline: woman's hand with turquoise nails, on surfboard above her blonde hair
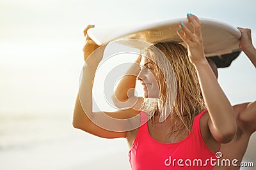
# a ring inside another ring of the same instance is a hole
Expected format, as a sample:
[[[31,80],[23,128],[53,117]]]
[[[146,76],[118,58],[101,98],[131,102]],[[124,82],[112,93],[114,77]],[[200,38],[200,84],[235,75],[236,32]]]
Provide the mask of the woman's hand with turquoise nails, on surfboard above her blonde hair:
[[[186,25],[180,23],[180,29],[177,31],[180,38],[188,46],[189,60],[196,64],[196,62],[205,61],[204,43],[201,34],[201,22],[191,13],[187,14],[189,24],[193,26],[193,31],[189,30]]]

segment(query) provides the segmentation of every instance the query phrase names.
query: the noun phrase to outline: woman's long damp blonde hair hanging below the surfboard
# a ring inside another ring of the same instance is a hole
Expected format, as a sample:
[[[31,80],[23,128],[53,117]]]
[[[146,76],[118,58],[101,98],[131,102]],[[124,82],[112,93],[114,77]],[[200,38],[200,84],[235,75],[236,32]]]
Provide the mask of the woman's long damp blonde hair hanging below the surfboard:
[[[143,49],[141,53],[156,62],[157,67],[154,68],[154,73],[159,83],[158,102],[162,107],[162,111],[166,107],[171,109],[171,132],[177,132],[179,134],[184,128],[190,132],[195,116],[205,109],[205,104],[195,67],[189,61],[188,50],[178,43],[169,42],[157,43],[156,45]],[[162,63],[164,62],[161,60],[163,55],[168,59],[170,63],[169,67],[166,67],[166,63]],[[164,67],[164,70],[167,69],[166,73],[162,72],[163,69],[161,70],[161,67]],[[168,91],[168,89],[170,90]],[[173,89],[177,89],[177,93],[173,92]],[[149,113],[156,113],[156,100],[152,103],[152,99],[150,101],[144,98],[143,101],[146,106],[145,110],[151,110]],[[173,119],[173,113],[176,113],[177,117],[179,117],[178,120],[177,118]],[[180,122],[179,120],[182,124],[178,124]],[[183,132],[186,133],[186,131]]]

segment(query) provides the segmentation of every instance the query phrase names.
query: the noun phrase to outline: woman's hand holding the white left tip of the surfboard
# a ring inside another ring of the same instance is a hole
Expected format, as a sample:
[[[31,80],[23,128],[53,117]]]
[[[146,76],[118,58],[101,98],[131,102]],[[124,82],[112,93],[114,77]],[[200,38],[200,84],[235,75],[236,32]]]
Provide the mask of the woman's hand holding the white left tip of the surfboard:
[[[84,61],[89,57],[89,55],[95,51],[97,48],[99,48],[99,45],[97,45],[87,34],[88,29],[93,28],[94,25],[87,25],[87,27],[84,29],[84,37],[86,38],[83,52],[84,52]]]

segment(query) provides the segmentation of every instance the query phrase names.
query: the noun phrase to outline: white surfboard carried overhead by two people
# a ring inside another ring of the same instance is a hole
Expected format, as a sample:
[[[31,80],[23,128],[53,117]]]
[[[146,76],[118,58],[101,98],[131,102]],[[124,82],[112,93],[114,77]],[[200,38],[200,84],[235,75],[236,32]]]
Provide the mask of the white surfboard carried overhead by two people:
[[[200,18],[200,21],[202,23],[205,55],[211,57],[217,67],[230,66],[232,60],[241,53],[239,49],[241,32],[236,27],[220,20]],[[183,22],[189,29],[193,29],[187,18],[177,18],[120,27],[95,26],[95,28],[88,30],[88,36],[97,45],[104,45],[117,39],[139,39],[152,44],[174,41],[186,46],[176,32],[180,22]]]

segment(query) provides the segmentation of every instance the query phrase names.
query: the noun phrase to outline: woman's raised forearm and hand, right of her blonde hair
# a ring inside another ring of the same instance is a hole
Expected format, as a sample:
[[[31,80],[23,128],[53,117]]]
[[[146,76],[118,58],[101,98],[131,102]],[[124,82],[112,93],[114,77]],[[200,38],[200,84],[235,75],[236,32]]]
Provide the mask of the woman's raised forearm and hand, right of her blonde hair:
[[[189,59],[196,68],[200,88],[209,112],[208,127],[212,136],[219,143],[228,143],[236,133],[234,111],[204,54],[200,20],[195,15],[188,15],[189,23],[193,25],[191,32],[184,24],[178,31],[180,38],[188,45]]]

